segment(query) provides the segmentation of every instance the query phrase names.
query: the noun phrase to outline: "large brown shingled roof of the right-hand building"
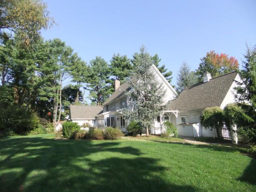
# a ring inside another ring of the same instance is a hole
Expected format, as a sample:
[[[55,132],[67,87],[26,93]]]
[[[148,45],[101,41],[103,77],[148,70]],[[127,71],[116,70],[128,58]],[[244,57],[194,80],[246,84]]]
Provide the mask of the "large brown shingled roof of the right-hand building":
[[[230,72],[205,83],[187,86],[177,99],[166,104],[166,108],[167,110],[186,111],[220,106],[237,74],[237,72]]]

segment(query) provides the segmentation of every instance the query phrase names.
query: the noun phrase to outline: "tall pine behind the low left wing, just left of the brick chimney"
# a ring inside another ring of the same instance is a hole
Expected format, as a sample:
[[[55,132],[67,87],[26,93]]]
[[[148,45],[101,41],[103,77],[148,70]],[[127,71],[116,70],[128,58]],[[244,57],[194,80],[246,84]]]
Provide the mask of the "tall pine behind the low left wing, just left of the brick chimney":
[[[89,98],[92,102],[96,102],[97,105],[101,105],[114,90],[110,85],[109,77],[110,68],[103,58],[96,56],[95,59],[90,61]]]

